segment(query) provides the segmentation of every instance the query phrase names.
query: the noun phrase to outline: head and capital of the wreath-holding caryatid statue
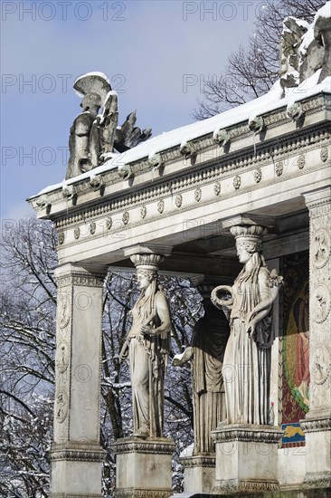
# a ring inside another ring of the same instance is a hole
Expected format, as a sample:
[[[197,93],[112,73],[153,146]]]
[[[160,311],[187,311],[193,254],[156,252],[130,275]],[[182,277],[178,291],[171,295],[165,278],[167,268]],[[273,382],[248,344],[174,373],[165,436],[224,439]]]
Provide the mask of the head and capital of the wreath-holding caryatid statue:
[[[259,225],[236,225],[230,230],[236,238],[237,254],[241,263],[247,263],[252,254],[261,252],[262,237],[267,233],[267,228]]]

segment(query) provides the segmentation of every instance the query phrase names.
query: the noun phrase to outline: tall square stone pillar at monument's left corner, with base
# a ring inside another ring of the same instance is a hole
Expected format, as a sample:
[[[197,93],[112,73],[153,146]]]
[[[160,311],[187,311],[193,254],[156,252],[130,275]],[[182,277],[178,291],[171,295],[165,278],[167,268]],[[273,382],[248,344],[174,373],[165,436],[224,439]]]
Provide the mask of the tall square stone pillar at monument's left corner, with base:
[[[101,496],[102,285],[106,269],[59,266],[51,497]]]

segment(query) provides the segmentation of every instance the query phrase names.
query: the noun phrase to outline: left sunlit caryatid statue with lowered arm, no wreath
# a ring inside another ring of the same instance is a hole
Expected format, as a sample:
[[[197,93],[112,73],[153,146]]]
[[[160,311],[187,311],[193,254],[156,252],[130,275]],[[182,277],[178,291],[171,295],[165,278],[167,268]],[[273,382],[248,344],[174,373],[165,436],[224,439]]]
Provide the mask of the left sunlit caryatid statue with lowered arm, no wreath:
[[[157,284],[157,271],[164,256],[134,254],[141,294],[133,307],[132,327],[120,352],[128,356],[132,386],[134,436],[162,437],[164,381],[170,352],[170,309]]]

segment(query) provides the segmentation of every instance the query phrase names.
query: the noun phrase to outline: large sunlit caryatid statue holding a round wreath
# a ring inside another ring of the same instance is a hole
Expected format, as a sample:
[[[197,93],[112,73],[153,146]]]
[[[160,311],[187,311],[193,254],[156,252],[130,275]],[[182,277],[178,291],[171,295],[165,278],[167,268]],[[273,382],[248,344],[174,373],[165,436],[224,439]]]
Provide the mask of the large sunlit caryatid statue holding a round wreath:
[[[222,367],[226,401],[223,423],[267,425],[274,340],[272,303],[282,277],[276,270],[270,273],[261,254],[266,228],[237,225],[232,226],[231,233],[244,266],[232,287],[216,287],[211,297],[213,304],[228,314],[231,327]]]

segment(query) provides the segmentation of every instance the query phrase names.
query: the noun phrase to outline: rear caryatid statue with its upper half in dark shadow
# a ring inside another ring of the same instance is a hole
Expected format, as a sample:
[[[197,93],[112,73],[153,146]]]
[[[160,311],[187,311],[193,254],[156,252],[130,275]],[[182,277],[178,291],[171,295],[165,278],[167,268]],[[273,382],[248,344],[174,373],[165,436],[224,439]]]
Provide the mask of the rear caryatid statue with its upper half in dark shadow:
[[[225,416],[222,359],[229,335],[224,314],[210,300],[211,285],[198,285],[204,315],[194,325],[191,345],[175,355],[173,366],[191,360],[194,402],[194,455],[214,453],[212,431]]]

